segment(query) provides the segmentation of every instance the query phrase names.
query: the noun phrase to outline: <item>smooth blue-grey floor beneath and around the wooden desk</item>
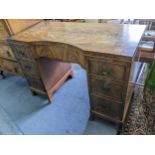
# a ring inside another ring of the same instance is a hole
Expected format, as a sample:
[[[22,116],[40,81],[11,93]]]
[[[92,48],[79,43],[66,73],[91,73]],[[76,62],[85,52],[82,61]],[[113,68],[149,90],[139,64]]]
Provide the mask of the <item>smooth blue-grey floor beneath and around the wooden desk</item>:
[[[52,104],[32,96],[24,78],[0,80],[0,134],[115,135],[113,123],[89,121],[86,72],[76,64],[73,70],[74,78],[55,92]]]

